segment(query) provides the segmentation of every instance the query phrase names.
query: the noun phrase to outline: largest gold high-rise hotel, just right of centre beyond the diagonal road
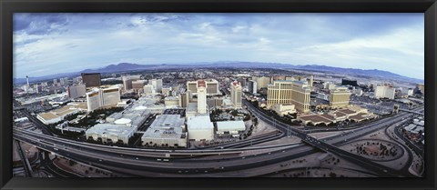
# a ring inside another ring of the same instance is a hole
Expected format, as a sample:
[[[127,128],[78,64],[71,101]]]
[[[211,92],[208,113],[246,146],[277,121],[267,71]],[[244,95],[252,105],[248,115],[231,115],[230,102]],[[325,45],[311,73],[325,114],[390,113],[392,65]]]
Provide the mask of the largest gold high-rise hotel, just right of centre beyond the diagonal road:
[[[310,110],[310,86],[306,81],[274,81],[268,85],[267,105],[293,104],[300,112]]]

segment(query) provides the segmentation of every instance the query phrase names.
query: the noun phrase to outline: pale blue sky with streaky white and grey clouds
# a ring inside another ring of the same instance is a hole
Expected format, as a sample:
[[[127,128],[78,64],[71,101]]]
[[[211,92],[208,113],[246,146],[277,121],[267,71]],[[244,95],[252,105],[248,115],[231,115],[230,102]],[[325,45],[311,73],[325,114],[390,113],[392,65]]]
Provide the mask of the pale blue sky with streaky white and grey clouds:
[[[416,14],[14,15],[14,77],[118,63],[247,61],[380,69],[424,78]]]

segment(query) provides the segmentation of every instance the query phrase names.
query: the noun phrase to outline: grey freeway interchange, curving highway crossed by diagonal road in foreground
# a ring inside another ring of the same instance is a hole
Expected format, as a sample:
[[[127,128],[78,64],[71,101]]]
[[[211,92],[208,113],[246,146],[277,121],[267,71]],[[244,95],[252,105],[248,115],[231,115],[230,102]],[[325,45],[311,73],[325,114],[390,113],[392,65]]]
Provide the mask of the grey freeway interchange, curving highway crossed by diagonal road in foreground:
[[[246,140],[230,143],[229,145],[210,147],[208,149],[166,150],[131,148],[95,145],[68,140],[51,135],[44,126],[40,125],[38,126],[43,128],[43,134],[15,128],[13,136],[15,140],[35,145],[41,150],[66,157],[77,163],[90,165],[125,176],[257,176],[264,174],[249,174],[248,172],[244,173],[241,171],[262,168],[266,165],[275,165],[291,159],[312,155],[320,151],[340,156],[352,164],[360,165],[375,176],[412,176],[406,169],[392,169],[386,165],[381,165],[380,163],[366,159],[361,155],[355,155],[342,150],[339,146],[346,145],[353,139],[395,125],[403,121],[404,118],[413,115],[413,113],[392,115],[391,117],[382,118],[371,123],[366,123],[361,127],[344,131],[339,135],[316,139],[308,135],[309,132],[307,131],[303,132],[290,127],[290,125],[274,120],[269,117],[269,115],[260,112],[247,101],[243,103],[259,120],[276,127],[280,131],[267,135],[268,137],[259,138],[259,142],[277,139],[287,134],[299,137],[303,143],[249,146],[252,145],[253,142]],[[420,110],[423,110],[423,106],[415,108],[412,111],[418,112]],[[32,115],[27,116],[30,116],[29,119],[33,118]],[[260,154],[239,155],[252,150],[264,151]],[[199,159],[208,155],[227,156]],[[409,160],[408,166],[409,165],[411,165],[411,159]]]

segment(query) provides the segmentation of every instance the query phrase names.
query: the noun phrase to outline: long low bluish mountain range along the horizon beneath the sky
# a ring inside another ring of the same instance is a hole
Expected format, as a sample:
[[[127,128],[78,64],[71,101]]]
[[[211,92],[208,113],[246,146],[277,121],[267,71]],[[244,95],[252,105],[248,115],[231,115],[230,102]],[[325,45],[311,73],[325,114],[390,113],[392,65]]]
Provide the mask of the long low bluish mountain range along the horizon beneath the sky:
[[[221,62],[199,62],[199,63],[189,63],[189,64],[162,64],[162,65],[138,65],[130,63],[120,63],[117,65],[107,65],[105,67],[96,69],[86,69],[80,72],[64,73],[56,75],[46,75],[40,77],[29,77],[29,82],[37,82],[43,80],[50,80],[53,78],[60,77],[73,77],[78,76],[81,73],[116,73],[116,72],[127,72],[127,71],[140,71],[140,70],[151,70],[151,69],[174,69],[174,68],[220,68],[220,67],[234,67],[234,68],[277,68],[277,69],[297,69],[302,71],[317,71],[317,72],[328,72],[334,74],[344,74],[344,75],[361,75],[361,76],[371,76],[371,77],[382,77],[392,80],[406,81],[411,83],[423,83],[423,80],[410,78],[402,75],[393,74],[388,71],[381,71],[377,69],[363,70],[356,68],[340,68],[326,65],[288,65],[288,64],[278,64],[278,63],[262,63],[262,62],[234,62],[234,61],[221,61]],[[14,78],[14,83],[25,83],[25,78]]]

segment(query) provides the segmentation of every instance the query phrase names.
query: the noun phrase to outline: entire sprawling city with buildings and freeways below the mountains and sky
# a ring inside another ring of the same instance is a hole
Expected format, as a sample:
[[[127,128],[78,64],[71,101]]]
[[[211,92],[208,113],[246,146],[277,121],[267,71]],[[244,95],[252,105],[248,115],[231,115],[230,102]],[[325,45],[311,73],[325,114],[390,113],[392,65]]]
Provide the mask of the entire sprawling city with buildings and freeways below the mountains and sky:
[[[424,85],[266,68],[14,86],[14,175],[422,177]]]

